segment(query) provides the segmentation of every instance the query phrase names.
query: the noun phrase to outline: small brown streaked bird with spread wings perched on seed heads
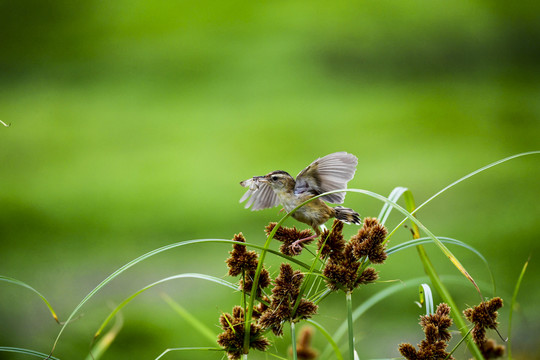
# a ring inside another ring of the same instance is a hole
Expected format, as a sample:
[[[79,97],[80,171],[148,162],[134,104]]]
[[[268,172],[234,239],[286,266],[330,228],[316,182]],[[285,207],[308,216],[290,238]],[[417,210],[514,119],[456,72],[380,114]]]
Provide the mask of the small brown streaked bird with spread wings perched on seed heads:
[[[337,152],[312,162],[300,171],[296,180],[282,170],[272,171],[264,176],[254,176],[240,183],[243,187],[249,187],[240,202],[249,198],[245,208],[251,207],[251,210],[262,210],[281,204],[287,212],[290,212],[316,195],[346,189],[347,183],[354,176],[357,164],[356,156],[346,152]],[[347,224],[360,225],[360,215],[356,211],[342,206],[330,207],[325,203],[327,201],[342,204],[344,200],[344,192],[328,194],[296,210],[292,217],[315,230],[314,236],[298,240],[298,242],[318,237],[321,234],[319,227],[331,218]],[[298,244],[294,245],[298,247]]]

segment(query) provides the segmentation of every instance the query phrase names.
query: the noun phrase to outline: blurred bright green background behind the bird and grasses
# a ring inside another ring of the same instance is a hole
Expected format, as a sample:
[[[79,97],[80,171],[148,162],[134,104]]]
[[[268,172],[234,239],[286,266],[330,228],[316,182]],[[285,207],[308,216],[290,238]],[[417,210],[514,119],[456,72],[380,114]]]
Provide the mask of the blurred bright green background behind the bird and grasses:
[[[0,127],[0,274],[37,288],[65,319],[102,279],[152,249],[240,231],[262,244],[263,227],[281,215],[238,204],[238,182],[253,175],[296,174],[344,150],[359,158],[350,187],[388,195],[406,186],[421,203],[483,165],[537,150],[539,14],[539,3],[503,1],[1,1],[0,120],[12,126]],[[493,168],[418,214],[435,234],[486,256],[506,304],[503,336],[531,257],[512,331],[519,359],[540,356],[538,160]],[[363,216],[382,206],[353,193],[345,205]],[[400,220],[394,214],[388,224]],[[409,238],[402,229],[392,244]],[[55,356],[86,356],[112,304],[148,283],[182,272],[225,276],[229,249],[182,247],[130,269],[82,309]],[[428,251],[441,274],[459,278],[435,247]],[[452,251],[489,282],[477,257]],[[277,260],[268,265],[275,274]],[[381,280],[423,275],[414,249],[378,270]],[[59,326],[44,304],[0,285],[0,345],[47,353]],[[354,303],[391,285],[362,289]],[[462,308],[478,302],[466,280],[450,290]],[[123,311],[104,359],[213,345],[160,293],[216,334],[219,315],[240,302],[201,281],[163,285]],[[404,290],[356,323],[361,358],[397,357],[399,343],[420,341],[416,299],[416,288]],[[334,331],[343,296],[320,313]],[[326,344],[320,334],[316,341]],[[274,343],[286,353],[287,338]]]

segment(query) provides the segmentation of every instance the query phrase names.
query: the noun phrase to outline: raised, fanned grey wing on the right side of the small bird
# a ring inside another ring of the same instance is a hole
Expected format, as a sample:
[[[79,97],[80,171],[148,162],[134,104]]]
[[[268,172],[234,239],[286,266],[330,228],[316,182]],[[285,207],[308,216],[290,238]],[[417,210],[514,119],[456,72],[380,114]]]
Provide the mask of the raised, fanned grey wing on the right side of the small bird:
[[[327,191],[346,189],[347,183],[354,176],[358,159],[356,156],[337,152],[312,162],[296,177],[295,194],[312,193],[315,195]],[[341,204],[345,200],[345,193],[335,193],[322,197],[323,200],[334,204]]]

